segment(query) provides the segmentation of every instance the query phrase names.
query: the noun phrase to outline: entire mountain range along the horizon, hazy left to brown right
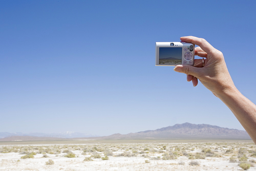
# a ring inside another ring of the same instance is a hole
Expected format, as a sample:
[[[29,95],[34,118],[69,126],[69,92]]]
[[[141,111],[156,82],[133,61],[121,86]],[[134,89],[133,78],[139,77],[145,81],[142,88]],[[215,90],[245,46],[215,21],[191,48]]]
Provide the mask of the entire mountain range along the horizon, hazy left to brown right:
[[[3,137],[7,135],[7,137]],[[39,136],[41,135],[41,136]],[[84,135],[84,136],[83,136]],[[60,134],[32,133],[19,135],[1,134],[0,141],[53,141],[53,140],[204,140],[204,139],[227,139],[227,140],[251,140],[246,131],[223,128],[208,124],[175,124],[156,130],[147,130],[129,134],[113,134],[109,136],[90,136],[82,133],[66,132]]]

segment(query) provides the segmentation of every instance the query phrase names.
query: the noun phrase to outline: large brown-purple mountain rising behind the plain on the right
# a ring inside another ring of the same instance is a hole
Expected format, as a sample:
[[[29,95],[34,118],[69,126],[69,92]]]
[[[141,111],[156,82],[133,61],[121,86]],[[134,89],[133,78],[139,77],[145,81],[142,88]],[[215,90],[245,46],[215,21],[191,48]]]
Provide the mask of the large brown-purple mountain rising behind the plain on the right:
[[[246,131],[222,128],[207,124],[175,124],[157,130],[141,131],[129,134],[113,134],[96,137],[96,139],[144,139],[144,140],[173,140],[173,139],[236,139],[250,140]]]

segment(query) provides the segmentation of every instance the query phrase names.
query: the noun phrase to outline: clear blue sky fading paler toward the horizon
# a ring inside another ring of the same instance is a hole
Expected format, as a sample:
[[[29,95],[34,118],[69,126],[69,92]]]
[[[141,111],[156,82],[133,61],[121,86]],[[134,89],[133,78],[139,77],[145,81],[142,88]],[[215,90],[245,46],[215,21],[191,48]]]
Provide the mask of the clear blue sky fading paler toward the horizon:
[[[155,66],[155,42],[205,38],[255,103],[255,6],[0,0],[0,132],[111,135],[185,122],[243,130],[201,83]]]

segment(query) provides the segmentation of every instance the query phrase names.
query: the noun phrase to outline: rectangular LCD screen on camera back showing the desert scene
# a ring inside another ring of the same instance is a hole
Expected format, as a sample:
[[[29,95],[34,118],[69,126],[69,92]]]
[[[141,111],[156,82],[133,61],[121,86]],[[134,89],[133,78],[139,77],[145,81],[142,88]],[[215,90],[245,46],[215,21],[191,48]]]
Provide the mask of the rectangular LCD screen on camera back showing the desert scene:
[[[159,47],[159,64],[173,65],[182,63],[182,47]]]

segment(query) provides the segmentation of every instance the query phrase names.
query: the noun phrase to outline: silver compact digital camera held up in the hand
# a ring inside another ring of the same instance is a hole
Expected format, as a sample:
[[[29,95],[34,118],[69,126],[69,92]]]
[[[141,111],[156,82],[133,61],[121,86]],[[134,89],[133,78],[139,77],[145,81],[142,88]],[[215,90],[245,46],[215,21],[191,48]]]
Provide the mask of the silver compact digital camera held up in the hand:
[[[190,42],[156,42],[156,66],[194,65],[195,45]]]

